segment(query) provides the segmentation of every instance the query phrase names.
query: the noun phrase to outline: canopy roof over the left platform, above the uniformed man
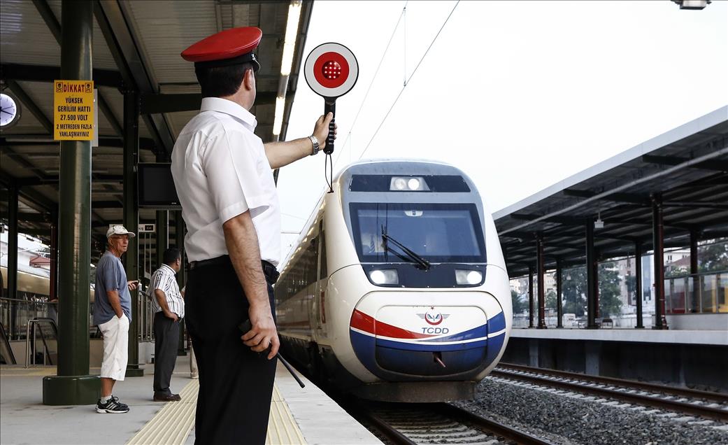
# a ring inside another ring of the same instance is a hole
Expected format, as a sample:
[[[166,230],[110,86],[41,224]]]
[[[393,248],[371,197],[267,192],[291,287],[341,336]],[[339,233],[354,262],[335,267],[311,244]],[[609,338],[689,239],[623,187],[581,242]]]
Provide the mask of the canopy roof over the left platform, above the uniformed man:
[[[92,67],[100,136],[92,154],[95,240],[103,242],[108,224],[122,221],[124,91],[140,95],[139,161],[168,159],[175,138],[201,100],[194,66],[180,57],[190,44],[228,28],[262,29],[258,95],[251,111],[258,119],[256,134],[263,141],[272,140],[289,5],[290,1],[248,0],[94,1]],[[312,1],[304,1],[280,138],[288,127],[311,12]],[[0,1],[1,87],[22,106],[20,121],[0,133],[0,184],[20,189],[20,232],[46,240],[51,212],[58,207],[60,158],[59,143],[52,140],[52,81],[60,78],[60,15],[60,0]],[[0,210],[7,216],[7,190],[0,188],[0,198]],[[154,222],[154,210],[142,209],[139,218]]]

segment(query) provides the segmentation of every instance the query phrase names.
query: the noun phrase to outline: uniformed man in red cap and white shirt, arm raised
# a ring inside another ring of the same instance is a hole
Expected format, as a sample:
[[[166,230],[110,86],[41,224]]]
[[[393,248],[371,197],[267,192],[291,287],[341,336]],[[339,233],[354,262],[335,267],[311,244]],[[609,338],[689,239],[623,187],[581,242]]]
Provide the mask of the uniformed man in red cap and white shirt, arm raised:
[[[182,52],[202,87],[172,175],[187,225],[187,326],[199,367],[195,444],[264,444],[279,339],[272,285],[280,208],[272,169],[323,149],[332,116],[307,138],[264,144],[253,133],[258,28],[233,28]],[[250,319],[243,335],[238,326]]]

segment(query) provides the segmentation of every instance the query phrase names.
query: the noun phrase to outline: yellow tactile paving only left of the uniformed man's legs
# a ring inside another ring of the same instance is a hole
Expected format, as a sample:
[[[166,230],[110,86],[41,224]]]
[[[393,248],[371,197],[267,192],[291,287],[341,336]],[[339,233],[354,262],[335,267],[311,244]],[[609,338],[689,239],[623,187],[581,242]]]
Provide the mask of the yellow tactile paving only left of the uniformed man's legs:
[[[180,391],[181,401],[168,402],[144,428],[130,438],[131,444],[184,444],[194,425],[194,409],[197,406],[199,382],[191,380]]]

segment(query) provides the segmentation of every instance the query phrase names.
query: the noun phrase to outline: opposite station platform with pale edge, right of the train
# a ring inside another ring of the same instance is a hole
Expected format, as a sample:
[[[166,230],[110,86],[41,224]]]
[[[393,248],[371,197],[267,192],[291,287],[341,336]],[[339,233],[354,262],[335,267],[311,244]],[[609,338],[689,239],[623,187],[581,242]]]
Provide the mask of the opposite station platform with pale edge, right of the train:
[[[514,328],[501,361],[728,393],[728,327]]]

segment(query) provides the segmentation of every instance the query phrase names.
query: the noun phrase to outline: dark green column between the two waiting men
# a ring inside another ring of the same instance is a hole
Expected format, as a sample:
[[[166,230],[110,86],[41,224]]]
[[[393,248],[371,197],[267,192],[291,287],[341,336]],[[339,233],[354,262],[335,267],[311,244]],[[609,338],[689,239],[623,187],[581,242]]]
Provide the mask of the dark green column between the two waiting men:
[[[137,205],[137,164],[139,159],[139,95],[136,91],[124,91],[124,227],[139,232],[139,208]],[[129,240],[127,253],[122,256],[127,280],[139,279],[139,238]],[[132,294],[132,322],[129,325],[129,361],[127,377],[141,377],[139,368],[139,318],[138,291]]]

